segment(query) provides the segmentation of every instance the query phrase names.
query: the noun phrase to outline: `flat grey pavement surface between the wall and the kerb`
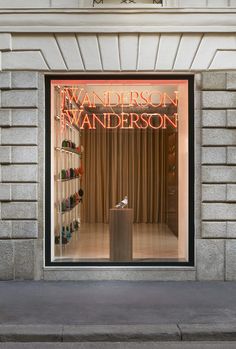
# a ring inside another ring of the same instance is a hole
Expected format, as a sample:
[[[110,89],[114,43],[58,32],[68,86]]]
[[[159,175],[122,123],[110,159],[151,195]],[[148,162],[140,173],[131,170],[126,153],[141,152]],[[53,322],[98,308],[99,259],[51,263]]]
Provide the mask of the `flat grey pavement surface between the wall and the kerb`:
[[[236,282],[0,282],[0,324],[236,323]]]

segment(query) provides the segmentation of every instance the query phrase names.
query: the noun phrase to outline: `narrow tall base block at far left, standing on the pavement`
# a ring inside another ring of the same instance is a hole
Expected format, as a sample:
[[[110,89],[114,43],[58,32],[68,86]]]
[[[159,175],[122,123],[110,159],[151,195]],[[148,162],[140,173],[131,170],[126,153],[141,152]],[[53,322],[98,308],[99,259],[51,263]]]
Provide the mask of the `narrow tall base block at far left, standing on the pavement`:
[[[13,278],[13,243],[11,240],[0,240],[0,280],[11,280]]]

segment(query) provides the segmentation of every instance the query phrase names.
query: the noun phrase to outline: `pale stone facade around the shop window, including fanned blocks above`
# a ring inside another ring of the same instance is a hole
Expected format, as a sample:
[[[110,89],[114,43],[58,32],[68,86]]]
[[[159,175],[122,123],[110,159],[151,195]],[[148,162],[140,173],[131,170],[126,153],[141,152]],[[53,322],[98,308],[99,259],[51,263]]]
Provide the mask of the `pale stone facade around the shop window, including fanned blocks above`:
[[[235,34],[68,30],[0,33],[0,280],[236,280]],[[196,266],[44,269],[44,76],[122,71],[196,76]]]

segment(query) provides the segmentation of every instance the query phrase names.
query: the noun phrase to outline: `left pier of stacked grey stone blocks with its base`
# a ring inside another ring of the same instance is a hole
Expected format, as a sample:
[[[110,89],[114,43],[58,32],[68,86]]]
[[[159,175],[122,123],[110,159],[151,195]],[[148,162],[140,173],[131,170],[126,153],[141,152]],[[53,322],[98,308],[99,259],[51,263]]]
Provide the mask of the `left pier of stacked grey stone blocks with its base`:
[[[0,90],[0,280],[34,279],[38,237],[38,73],[2,72]]]

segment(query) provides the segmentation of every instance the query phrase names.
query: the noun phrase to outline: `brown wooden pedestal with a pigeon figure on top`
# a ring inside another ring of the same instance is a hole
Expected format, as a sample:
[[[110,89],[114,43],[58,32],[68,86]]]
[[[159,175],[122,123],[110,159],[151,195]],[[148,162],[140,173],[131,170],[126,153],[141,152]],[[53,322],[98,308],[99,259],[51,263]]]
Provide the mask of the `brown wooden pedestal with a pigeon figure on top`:
[[[110,259],[114,262],[132,261],[133,209],[111,208],[109,217]]]

